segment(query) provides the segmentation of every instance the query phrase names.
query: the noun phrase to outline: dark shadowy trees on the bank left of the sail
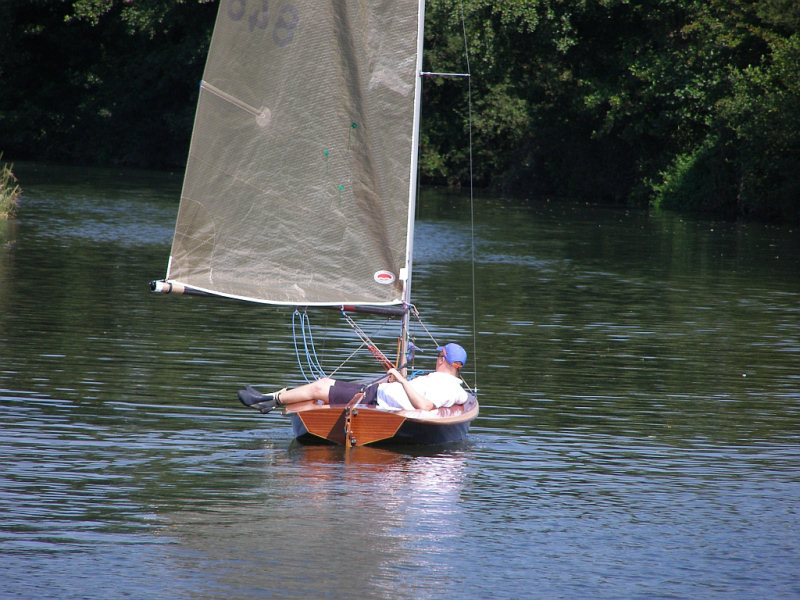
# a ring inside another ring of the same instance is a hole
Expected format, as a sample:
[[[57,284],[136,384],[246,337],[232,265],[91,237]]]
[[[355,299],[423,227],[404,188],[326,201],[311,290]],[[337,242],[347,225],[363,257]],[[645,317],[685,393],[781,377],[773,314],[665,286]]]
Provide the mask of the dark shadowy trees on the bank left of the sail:
[[[214,14],[199,0],[0,3],[7,153],[180,166]]]

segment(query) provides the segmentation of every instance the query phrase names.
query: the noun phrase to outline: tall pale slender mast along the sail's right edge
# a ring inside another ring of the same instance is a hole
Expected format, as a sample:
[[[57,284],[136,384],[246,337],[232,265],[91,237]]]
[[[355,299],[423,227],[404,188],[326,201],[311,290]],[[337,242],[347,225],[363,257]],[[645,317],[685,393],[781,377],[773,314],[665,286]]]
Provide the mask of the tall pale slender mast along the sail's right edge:
[[[398,344],[397,364],[398,366],[407,362],[408,352],[408,326],[410,319],[411,305],[411,275],[414,259],[414,220],[417,208],[417,165],[419,162],[419,124],[422,113],[422,52],[425,41],[425,0],[419,0],[417,10],[417,63],[414,78],[414,119],[411,133],[411,172],[408,178],[408,227],[406,239],[406,266],[405,272],[401,275],[403,281],[403,307],[406,312],[403,314],[400,342]]]

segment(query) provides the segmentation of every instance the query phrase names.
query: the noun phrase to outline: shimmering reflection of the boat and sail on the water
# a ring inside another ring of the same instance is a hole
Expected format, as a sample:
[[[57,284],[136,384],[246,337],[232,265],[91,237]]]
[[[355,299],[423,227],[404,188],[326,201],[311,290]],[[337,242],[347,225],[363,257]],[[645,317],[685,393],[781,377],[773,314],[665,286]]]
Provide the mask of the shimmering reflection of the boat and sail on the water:
[[[281,598],[321,598],[332,590],[388,597],[409,570],[445,581],[463,568],[441,558],[445,538],[459,535],[468,518],[459,502],[463,449],[408,454],[293,444],[288,452],[267,448],[266,455],[260,491],[161,515],[181,548],[183,570],[217,578],[193,581],[197,597],[242,582],[243,597],[255,589]],[[407,586],[404,597],[417,597],[415,588],[430,581]]]

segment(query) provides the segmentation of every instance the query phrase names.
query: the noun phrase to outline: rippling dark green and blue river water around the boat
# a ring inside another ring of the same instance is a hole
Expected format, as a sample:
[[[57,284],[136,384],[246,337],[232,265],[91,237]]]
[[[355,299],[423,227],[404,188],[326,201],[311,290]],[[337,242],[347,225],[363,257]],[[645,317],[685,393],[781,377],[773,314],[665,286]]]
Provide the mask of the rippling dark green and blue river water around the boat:
[[[481,199],[473,346],[465,199],[427,193],[416,301],[481,415],[346,452],[235,400],[301,380],[289,312],[146,291],[178,176],[17,171],[0,597],[800,598],[798,232]]]

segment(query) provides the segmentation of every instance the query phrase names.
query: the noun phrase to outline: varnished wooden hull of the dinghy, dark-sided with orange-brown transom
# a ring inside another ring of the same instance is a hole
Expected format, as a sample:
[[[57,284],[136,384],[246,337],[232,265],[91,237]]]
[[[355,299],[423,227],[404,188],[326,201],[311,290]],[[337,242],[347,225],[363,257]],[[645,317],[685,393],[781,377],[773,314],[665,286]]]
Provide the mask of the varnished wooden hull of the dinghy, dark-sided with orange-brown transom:
[[[444,444],[467,436],[478,416],[474,398],[435,411],[386,411],[362,405],[303,405],[287,410],[292,432],[301,442],[327,441],[343,446],[366,444]]]

